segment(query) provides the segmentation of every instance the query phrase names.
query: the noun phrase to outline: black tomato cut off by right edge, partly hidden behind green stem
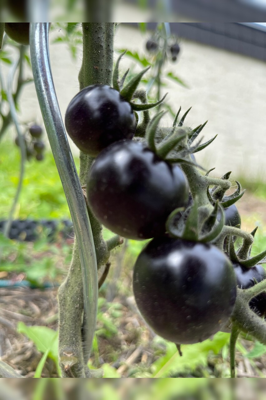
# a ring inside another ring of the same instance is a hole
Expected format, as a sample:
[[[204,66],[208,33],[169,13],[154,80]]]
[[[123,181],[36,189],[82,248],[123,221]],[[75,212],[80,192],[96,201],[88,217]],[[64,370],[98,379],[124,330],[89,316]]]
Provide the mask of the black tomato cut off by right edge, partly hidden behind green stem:
[[[233,266],[237,286],[241,289],[251,288],[255,284],[254,280],[258,283],[266,278],[266,271],[261,265],[246,268],[241,264],[233,263]],[[259,316],[266,316],[266,294],[262,293],[254,297],[249,306]]]

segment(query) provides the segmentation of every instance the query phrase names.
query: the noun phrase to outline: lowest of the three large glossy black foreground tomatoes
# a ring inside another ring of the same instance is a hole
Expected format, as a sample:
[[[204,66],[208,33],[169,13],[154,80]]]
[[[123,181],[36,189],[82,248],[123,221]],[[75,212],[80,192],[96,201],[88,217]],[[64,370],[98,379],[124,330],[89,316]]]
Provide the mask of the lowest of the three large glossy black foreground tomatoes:
[[[228,321],[236,276],[215,246],[164,236],[151,240],[139,254],[133,292],[155,333],[191,344],[209,338]]]

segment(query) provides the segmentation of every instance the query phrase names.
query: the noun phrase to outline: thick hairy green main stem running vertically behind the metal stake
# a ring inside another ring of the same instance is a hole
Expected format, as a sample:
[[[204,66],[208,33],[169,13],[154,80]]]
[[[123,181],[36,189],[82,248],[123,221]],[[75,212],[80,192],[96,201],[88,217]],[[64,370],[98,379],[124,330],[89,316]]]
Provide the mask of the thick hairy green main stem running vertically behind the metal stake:
[[[114,23],[83,23],[82,28],[83,60],[79,72],[80,90],[92,84],[111,85]],[[79,179],[83,186],[83,194],[85,196],[84,187],[87,181],[87,174],[94,159],[82,152],[80,152],[79,159]],[[85,200],[99,268],[101,265],[108,262],[111,248],[121,244],[121,239],[115,236],[108,244],[103,240],[102,226],[89,209],[86,196]],[[67,296],[65,294],[67,294]],[[60,290],[59,300],[63,295],[64,324],[66,324],[64,330],[66,332],[71,332],[71,338],[69,338],[69,342],[71,343],[69,351],[71,351],[71,354],[66,354],[68,364],[71,357],[73,358],[72,366],[70,366],[69,370],[63,371],[63,373],[65,377],[90,377],[91,372],[87,368],[87,360],[84,359],[84,362],[81,362],[83,359],[83,282],[79,250],[76,242],[73,249],[71,266],[66,281],[64,282],[64,288]],[[62,361],[64,361],[64,355],[61,355],[61,362]]]

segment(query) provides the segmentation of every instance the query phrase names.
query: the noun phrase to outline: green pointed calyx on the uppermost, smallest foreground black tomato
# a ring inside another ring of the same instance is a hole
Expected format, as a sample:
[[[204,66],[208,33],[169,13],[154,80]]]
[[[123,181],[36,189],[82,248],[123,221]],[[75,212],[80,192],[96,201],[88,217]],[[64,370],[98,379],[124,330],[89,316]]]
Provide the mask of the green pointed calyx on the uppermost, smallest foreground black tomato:
[[[145,72],[147,72],[149,70],[149,68],[151,68],[151,67],[149,66],[149,67],[145,68],[144,70],[142,70],[141,72],[139,72],[139,74],[133,76],[133,78],[131,78],[131,80],[129,80],[129,82],[124,86],[125,78],[127,77],[129,69],[125,72],[125,74],[119,80],[119,62],[125,53],[126,53],[126,51],[124,51],[123,53],[120,54],[120,56],[118,57],[117,62],[115,64],[115,68],[113,70],[113,79],[112,79],[113,88],[118,90],[118,92],[120,92],[121,96],[127,102],[129,102],[129,104],[131,105],[131,107],[134,111],[146,111],[146,110],[150,110],[153,107],[158,106],[159,104],[161,104],[163,102],[166,94],[161,100],[159,100],[156,103],[152,103],[152,104],[147,104],[147,103],[146,104],[135,104],[133,101],[131,101],[134,98],[135,91],[137,90],[137,87],[141,81],[141,78],[143,77]]]

